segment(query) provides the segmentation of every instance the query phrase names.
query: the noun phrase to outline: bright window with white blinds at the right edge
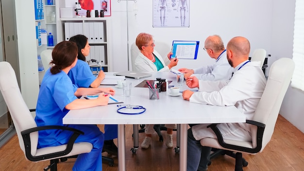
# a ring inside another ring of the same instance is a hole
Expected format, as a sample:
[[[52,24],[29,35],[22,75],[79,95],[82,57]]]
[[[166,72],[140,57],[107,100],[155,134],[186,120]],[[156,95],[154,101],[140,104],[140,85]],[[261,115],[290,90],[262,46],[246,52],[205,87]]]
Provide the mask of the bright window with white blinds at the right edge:
[[[304,91],[304,0],[296,0],[292,56],[295,69],[291,86]]]

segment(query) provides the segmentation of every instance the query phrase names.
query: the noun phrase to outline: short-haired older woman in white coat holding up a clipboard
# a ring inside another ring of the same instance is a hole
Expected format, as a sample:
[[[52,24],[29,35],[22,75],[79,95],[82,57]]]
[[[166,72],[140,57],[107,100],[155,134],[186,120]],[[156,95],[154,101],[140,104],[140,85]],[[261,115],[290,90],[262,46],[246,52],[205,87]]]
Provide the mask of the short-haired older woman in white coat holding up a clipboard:
[[[157,72],[157,71],[169,71],[172,67],[177,65],[178,59],[171,59],[168,66],[165,65],[163,58],[157,51],[154,51],[154,40],[151,34],[140,33],[136,37],[136,46],[140,53],[135,59],[135,69],[138,72]],[[170,59],[172,52],[169,52],[167,57]],[[152,141],[152,133],[154,125],[146,125],[145,133],[146,137],[141,143],[141,148],[147,149]],[[172,134],[173,129],[176,129],[176,124],[167,124],[166,134],[166,146],[168,148],[173,147]]]

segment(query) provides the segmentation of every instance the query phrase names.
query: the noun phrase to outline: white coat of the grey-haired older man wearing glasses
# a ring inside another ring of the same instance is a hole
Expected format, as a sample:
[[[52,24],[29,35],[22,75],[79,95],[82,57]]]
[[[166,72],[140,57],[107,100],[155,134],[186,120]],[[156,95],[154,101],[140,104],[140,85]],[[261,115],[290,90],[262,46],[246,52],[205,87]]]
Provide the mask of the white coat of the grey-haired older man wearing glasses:
[[[220,54],[215,64],[193,70],[194,74],[191,76],[209,81],[229,80],[233,72],[233,68],[228,63],[226,51]]]

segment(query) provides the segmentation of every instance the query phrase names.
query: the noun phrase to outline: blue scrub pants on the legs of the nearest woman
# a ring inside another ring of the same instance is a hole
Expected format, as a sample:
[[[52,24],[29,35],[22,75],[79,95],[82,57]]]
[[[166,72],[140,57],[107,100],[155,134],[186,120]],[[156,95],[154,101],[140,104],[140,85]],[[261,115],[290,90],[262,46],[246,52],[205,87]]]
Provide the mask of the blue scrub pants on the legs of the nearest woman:
[[[89,142],[93,145],[90,153],[79,154],[73,166],[73,171],[102,171],[101,151],[103,147],[104,135],[97,127],[97,125],[68,125],[84,132],[75,142]],[[62,132],[59,137],[65,136],[61,140],[68,141],[69,137],[65,132]],[[67,143],[67,142],[66,142]]]

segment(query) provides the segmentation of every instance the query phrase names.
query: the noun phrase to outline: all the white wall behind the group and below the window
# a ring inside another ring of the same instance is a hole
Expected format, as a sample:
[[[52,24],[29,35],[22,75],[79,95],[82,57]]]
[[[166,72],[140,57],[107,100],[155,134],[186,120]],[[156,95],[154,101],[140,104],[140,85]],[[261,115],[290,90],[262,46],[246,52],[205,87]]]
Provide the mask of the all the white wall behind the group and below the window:
[[[189,28],[153,28],[152,0],[137,0],[137,3],[128,0],[127,29],[126,3],[126,0],[112,1],[115,71],[128,69],[127,40],[129,39],[130,48],[137,34],[141,32],[150,33],[155,40],[165,41],[169,45],[172,40],[201,41],[198,59],[180,60],[175,68],[196,68],[214,63],[203,51],[203,42],[211,34],[219,34],[225,45],[234,36],[247,37],[252,51],[264,48],[267,54],[271,54],[268,59],[269,67],[281,57],[292,58],[295,0],[190,0]],[[138,11],[133,10],[134,4]],[[280,110],[280,114],[302,132],[303,102],[304,92],[289,87]]]

